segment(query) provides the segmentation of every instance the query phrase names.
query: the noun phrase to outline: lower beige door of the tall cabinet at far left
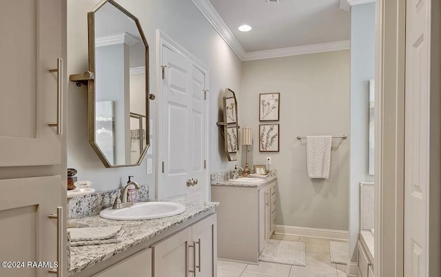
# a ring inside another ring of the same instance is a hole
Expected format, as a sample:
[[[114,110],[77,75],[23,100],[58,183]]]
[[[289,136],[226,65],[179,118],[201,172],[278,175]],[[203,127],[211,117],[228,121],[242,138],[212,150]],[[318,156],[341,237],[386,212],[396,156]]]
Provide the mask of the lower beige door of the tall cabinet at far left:
[[[57,213],[60,176],[0,180],[0,261],[23,261],[24,268],[0,267],[0,276],[54,276],[27,261],[57,260]],[[64,244],[65,245],[65,244]]]

